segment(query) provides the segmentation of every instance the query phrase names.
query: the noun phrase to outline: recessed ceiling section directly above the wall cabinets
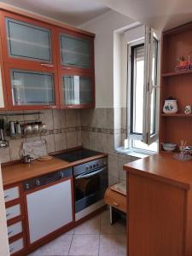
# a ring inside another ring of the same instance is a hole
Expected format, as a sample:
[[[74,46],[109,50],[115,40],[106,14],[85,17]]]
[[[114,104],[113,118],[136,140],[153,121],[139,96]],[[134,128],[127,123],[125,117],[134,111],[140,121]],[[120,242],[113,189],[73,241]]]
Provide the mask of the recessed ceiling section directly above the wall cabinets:
[[[106,13],[109,9],[95,0],[1,0],[39,15],[79,26],[82,23]]]

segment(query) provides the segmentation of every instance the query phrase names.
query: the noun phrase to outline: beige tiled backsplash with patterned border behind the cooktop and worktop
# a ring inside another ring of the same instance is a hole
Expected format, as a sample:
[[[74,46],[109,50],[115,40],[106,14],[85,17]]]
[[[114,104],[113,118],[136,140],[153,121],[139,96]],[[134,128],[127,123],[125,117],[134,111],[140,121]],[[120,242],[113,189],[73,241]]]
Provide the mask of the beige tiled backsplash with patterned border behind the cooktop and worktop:
[[[30,111],[25,112],[29,113]],[[54,109],[40,112],[43,113],[40,116],[7,117],[7,121],[27,122],[32,119],[40,119],[47,125],[48,132],[44,136],[10,139],[9,148],[0,149],[2,162],[19,160],[20,146],[25,141],[46,139],[49,153],[83,145],[84,148],[108,153],[109,183],[125,182],[123,165],[136,160],[135,157],[118,154],[114,150],[123,144],[125,138],[125,108]]]

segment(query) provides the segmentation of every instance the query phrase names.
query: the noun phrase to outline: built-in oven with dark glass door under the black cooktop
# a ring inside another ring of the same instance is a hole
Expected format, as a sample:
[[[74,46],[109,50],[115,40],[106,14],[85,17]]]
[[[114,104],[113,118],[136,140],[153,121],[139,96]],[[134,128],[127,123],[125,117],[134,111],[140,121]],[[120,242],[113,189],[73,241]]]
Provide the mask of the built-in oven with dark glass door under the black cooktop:
[[[73,167],[75,218],[83,218],[104,205],[108,189],[108,158],[101,158]]]

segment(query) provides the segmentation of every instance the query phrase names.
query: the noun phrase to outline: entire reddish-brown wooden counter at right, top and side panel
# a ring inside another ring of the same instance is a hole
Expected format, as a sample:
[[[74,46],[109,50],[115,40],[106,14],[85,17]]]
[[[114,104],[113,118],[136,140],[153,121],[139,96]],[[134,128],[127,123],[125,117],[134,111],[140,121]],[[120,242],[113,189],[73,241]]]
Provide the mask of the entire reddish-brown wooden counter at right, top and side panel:
[[[172,156],[154,154],[124,166],[127,255],[192,255],[192,160]]]

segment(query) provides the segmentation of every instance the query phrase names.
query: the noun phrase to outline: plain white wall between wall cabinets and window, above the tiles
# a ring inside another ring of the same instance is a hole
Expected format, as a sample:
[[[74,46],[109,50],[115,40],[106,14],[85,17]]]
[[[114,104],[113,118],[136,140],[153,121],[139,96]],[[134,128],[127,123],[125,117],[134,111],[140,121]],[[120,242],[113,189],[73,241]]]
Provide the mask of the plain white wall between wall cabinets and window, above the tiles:
[[[96,108],[113,108],[113,32],[134,21],[110,10],[80,28],[96,33]]]

